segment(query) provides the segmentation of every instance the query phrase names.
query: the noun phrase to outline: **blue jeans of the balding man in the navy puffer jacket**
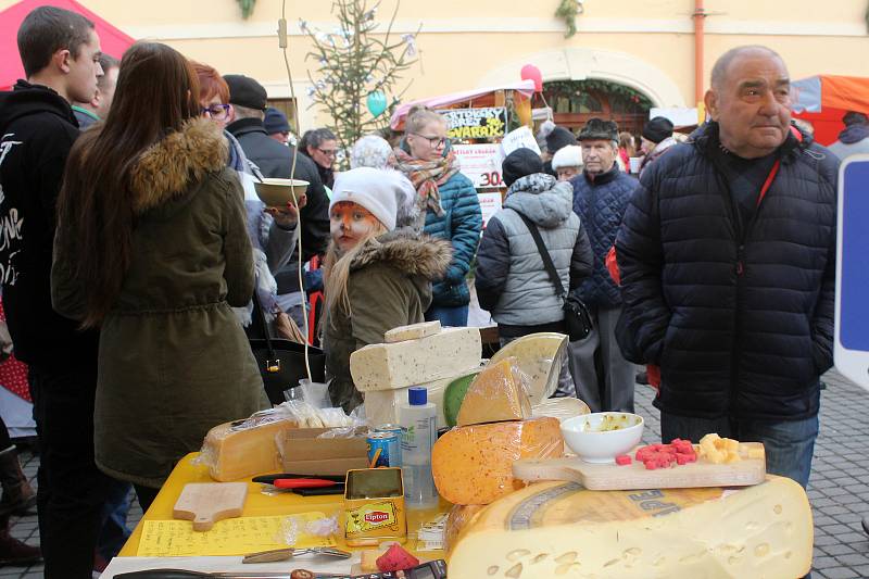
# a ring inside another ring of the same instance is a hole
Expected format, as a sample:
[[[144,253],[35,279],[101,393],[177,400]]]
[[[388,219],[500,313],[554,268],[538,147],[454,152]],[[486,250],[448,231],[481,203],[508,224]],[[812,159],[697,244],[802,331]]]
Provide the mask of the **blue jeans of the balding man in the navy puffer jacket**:
[[[818,438],[818,417],[803,420],[735,420],[721,418],[691,418],[660,413],[660,438],[670,442],[675,438],[697,442],[704,435],[718,432],[720,437],[741,442],[763,442],[767,455],[767,473],[791,478],[805,489],[811,473],[811,455]]]

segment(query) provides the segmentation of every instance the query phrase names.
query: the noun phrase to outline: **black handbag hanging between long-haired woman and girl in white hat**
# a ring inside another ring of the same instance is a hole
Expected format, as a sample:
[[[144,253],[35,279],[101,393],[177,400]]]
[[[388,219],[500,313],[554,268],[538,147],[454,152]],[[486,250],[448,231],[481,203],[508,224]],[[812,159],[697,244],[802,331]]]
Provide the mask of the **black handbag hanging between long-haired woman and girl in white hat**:
[[[284,392],[299,386],[299,380],[307,378],[305,370],[304,344],[280,338],[269,338],[268,324],[256,291],[253,292],[253,315],[262,326],[264,338],[251,338],[251,350],[256,358],[256,366],[263,377],[263,386],[272,404],[286,402]],[[307,360],[311,364],[311,379],[315,382],[326,381],[326,355],[319,348],[307,347]]]

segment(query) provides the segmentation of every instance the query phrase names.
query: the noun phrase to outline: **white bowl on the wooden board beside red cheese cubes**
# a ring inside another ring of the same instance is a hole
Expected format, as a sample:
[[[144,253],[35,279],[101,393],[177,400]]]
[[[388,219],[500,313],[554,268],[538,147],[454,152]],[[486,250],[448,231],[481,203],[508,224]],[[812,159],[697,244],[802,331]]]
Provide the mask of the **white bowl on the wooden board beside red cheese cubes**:
[[[640,443],[643,417],[628,412],[595,412],[562,423],[562,436],[587,463],[612,463]]]

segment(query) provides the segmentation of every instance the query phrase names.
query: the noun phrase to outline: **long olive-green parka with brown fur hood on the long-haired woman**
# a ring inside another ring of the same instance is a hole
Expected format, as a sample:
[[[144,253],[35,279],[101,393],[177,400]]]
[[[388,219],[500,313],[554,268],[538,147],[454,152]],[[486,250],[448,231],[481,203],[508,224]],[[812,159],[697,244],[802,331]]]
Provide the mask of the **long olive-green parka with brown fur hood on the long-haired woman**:
[[[147,150],[131,173],[131,262],[100,332],[93,416],[97,465],[160,487],[213,426],[265,407],[256,362],[230,306],[254,275],[241,186],[207,119]],[[59,224],[54,309],[81,318],[75,235]]]

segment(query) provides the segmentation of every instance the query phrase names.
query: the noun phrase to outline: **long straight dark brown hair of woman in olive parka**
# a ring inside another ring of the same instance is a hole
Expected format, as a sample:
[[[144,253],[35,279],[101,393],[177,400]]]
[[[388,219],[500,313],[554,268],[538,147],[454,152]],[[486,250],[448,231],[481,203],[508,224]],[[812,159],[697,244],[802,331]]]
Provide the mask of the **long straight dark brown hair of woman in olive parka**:
[[[149,147],[199,115],[198,99],[197,75],[187,59],[165,45],[137,42],[121,61],[105,123],[73,146],[58,218],[75,243],[74,273],[85,288],[83,327],[100,325],[129,267],[133,167]]]

